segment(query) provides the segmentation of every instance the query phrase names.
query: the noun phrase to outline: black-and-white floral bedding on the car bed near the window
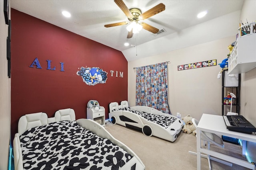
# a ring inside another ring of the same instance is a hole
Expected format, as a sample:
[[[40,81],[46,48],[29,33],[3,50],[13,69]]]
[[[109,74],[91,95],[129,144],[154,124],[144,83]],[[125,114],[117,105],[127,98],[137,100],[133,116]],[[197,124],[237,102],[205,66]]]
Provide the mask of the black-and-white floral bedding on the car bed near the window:
[[[127,110],[132,113],[136,113],[137,115],[140,115],[144,119],[154,122],[154,123],[164,127],[165,129],[167,129],[174,121],[176,121],[178,119],[176,117],[168,117],[168,116],[147,113],[145,111],[133,110],[130,107],[125,107],[122,109],[113,109],[113,111],[115,111],[115,110]]]

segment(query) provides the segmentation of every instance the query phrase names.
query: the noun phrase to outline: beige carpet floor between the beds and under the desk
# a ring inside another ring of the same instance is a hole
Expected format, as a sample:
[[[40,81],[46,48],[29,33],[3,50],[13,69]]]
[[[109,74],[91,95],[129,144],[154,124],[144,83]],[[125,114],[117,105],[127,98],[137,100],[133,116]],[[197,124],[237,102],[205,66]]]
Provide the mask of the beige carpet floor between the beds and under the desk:
[[[196,170],[196,156],[188,153],[189,150],[196,152],[196,137],[192,134],[181,133],[176,141],[170,142],[110,122],[106,123],[106,130],[130,147],[140,157],[146,170]],[[239,145],[226,142],[224,145],[225,148],[218,152],[242,158]],[[217,150],[218,147],[212,146],[211,149]],[[249,170],[236,164],[231,167],[212,160],[211,165],[212,170]],[[201,169],[209,169],[206,158],[201,158]]]

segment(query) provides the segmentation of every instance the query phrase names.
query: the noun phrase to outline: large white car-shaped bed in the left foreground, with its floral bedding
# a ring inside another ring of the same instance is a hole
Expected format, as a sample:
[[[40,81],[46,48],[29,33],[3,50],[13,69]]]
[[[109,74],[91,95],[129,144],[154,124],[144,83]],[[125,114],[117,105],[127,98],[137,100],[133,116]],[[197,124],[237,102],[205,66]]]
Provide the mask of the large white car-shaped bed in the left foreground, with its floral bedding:
[[[75,121],[73,109],[20,117],[13,141],[15,170],[144,170],[140,158],[90,119]]]

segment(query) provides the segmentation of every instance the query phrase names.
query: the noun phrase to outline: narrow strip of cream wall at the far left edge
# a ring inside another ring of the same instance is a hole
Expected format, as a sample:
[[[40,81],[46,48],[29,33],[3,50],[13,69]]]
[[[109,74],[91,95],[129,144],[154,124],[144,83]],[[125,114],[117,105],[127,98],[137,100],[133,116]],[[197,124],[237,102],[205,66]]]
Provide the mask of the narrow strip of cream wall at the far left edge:
[[[8,25],[4,20],[4,0],[0,0],[0,169],[8,167],[9,143],[11,134],[11,80],[8,78],[6,59],[6,37]]]

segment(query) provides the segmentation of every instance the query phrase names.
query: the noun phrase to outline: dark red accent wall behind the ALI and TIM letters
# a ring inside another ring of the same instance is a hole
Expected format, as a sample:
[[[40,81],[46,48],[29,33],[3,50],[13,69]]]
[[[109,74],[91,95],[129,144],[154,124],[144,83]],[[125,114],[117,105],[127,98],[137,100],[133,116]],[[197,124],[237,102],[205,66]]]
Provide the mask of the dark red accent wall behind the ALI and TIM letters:
[[[127,100],[128,62],[122,52],[14,9],[11,16],[12,138],[19,118],[28,113],[45,112],[52,117],[58,109],[73,108],[76,119],[86,118],[87,102],[98,100],[107,119],[110,102]],[[29,67],[36,58],[42,69]],[[46,60],[56,70],[47,70]],[[107,72],[106,83],[87,85],[76,74],[82,66]]]

